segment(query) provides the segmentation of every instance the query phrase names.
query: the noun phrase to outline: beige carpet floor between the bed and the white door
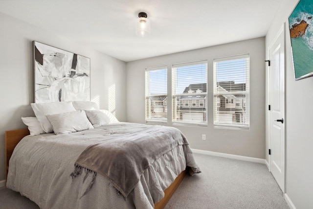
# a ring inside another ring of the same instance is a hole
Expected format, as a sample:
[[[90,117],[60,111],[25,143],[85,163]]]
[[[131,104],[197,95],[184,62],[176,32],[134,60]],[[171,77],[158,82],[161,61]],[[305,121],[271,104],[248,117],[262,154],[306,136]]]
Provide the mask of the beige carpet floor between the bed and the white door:
[[[265,164],[194,155],[202,173],[186,176],[165,209],[289,209]]]

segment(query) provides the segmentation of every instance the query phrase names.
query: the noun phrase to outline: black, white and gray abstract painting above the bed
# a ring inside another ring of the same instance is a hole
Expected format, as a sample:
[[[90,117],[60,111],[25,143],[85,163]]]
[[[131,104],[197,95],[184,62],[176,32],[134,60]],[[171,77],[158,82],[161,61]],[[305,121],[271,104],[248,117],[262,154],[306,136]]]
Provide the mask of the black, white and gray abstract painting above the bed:
[[[90,101],[90,59],[33,41],[35,102]]]

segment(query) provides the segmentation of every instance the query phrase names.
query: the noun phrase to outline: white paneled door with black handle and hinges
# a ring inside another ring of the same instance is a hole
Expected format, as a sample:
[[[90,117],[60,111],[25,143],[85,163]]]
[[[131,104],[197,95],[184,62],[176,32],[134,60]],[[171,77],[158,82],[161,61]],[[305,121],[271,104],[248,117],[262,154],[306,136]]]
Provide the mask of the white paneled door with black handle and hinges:
[[[269,46],[270,172],[285,193],[285,44],[284,26]]]

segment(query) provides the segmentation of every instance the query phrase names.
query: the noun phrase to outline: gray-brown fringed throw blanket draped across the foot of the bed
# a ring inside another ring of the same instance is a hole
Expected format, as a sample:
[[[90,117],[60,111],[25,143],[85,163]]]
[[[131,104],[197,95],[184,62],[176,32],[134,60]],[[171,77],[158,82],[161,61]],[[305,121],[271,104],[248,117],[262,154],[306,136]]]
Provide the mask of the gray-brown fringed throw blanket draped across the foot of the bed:
[[[123,123],[119,128],[110,129],[110,135],[80,154],[71,176],[74,179],[82,169],[93,173],[93,181],[96,174],[103,175],[126,199],[142,173],[178,145],[186,145],[190,150],[187,139],[176,128]],[[194,159],[189,159],[190,165],[193,172],[201,172]]]

